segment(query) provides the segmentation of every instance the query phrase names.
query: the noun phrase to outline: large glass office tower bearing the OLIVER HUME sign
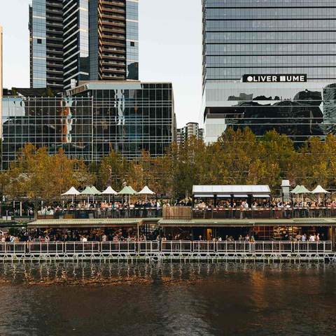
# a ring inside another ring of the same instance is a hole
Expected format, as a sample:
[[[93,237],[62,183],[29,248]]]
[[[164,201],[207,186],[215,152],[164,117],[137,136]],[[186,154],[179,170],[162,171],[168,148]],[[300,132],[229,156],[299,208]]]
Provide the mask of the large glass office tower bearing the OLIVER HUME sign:
[[[206,142],[227,127],[250,127],[257,136],[276,130],[297,145],[335,129],[335,3],[203,0],[202,6]]]

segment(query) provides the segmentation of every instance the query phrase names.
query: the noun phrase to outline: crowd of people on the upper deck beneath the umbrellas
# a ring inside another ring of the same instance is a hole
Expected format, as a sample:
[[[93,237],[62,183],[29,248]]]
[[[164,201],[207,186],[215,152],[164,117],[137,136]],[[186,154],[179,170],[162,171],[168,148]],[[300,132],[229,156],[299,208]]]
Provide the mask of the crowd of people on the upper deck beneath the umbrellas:
[[[314,211],[321,208],[336,209],[336,202],[329,200],[326,202],[318,202],[316,200],[293,200],[290,202],[282,202],[281,200],[253,200],[252,204],[249,204],[247,200],[221,200],[216,202],[214,200],[195,200],[195,203],[191,199],[176,200],[175,202],[169,202],[169,200],[137,200],[136,202],[99,202],[99,201],[80,201],[80,202],[54,202],[50,204],[40,205],[37,214],[39,216],[55,216],[55,218],[62,217],[64,214],[74,213],[77,214],[82,211],[82,215],[86,213],[86,216],[93,216],[93,218],[111,217],[111,218],[128,218],[128,217],[158,217],[162,215],[162,208],[164,207],[193,207],[196,211],[222,209],[222,210],[235,210],[248,212],[251,210],[271,210],[282,211],[283,216],[286,217],[288,211],[306,211],[297,216],[309,216],[308,210]],[[287,211],[287,212],[286,212]],[[34,218],[34,205],[25,207],[20,210],[16,207],[13,211],[6,211],[7,214],[14,215],[15,217],[27,216]],[[274,212],[276,213],[276,212]],[[89,215],[91,214],[91,215]],[[244,215],[241,215],[244,216]],[[288,212],[288,216],[289,212]]]

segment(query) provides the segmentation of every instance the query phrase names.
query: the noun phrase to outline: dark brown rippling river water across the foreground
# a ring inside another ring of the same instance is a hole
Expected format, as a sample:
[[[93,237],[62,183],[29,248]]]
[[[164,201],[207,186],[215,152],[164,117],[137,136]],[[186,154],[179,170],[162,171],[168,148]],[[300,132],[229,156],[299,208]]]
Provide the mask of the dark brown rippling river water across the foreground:
[[[336,265],[0,265],[0,335],[336,335]]]

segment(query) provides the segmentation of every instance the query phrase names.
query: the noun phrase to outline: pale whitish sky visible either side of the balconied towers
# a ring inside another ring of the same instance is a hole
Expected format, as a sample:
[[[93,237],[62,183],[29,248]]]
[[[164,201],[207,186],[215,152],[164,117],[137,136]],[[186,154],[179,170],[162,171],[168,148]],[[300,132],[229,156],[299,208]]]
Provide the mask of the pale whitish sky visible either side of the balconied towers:
[[[29,87],[29,0],[0,0],[3,87]],[[139,0],[139,79],[171,81],[178,127],[202,123],[201,0]]]

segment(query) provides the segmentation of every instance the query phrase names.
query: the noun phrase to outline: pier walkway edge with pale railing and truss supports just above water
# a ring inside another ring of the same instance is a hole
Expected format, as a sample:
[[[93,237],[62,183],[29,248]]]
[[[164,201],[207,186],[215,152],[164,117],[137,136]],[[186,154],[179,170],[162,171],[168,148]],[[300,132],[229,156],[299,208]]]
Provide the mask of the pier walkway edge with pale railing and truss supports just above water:
[[[336,262],[331,241],[69,241],[0,243],[0,260]]]

